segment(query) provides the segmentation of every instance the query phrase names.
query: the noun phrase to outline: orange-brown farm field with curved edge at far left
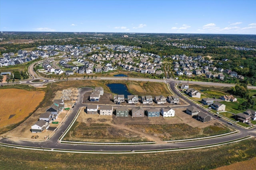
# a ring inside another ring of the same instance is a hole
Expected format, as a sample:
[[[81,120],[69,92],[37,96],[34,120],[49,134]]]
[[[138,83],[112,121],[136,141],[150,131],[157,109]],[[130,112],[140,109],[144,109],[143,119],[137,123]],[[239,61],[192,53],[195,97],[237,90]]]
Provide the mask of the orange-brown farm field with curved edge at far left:
[[[0,90],[0,128],[19,123],[32,113],[44,98],[44,91]]]

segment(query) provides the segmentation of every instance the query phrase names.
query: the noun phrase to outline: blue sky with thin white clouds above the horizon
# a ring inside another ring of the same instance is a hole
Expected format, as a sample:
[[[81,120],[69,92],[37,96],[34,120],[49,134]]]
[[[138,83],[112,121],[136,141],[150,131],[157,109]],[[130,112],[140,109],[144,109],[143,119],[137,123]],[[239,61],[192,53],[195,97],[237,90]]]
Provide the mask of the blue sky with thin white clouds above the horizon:
[[[0,31],[256,34],[256,0],[0,0]]]

